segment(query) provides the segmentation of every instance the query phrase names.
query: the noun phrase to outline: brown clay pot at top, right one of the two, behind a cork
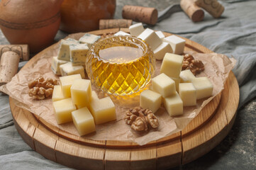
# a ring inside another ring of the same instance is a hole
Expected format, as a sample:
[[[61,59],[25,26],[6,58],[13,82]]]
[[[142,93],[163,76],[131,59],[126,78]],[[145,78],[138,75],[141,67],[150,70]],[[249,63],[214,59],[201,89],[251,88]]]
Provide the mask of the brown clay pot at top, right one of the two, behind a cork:
[[[111,19],[116,0],[64,0],[61,6],[60,30],[68,33],[99,29],[100,19]]]

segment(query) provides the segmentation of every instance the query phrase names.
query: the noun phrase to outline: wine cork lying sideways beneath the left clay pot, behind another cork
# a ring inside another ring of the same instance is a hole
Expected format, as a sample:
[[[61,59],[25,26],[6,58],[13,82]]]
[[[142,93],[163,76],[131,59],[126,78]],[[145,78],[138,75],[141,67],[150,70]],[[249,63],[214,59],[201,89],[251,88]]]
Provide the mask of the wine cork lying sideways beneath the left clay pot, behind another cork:
[[[0,57],[6,51],[16,52],[21,60],[29,60],[28,45],[0,45]]]

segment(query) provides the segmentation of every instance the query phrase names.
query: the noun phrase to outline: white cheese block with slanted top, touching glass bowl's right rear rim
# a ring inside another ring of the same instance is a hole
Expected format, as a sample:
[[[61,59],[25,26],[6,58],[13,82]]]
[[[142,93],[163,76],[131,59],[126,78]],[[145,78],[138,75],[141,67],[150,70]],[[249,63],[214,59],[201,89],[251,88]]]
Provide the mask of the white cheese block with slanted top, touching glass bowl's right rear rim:
[[[145,29],[143,33],[138,35],[138,38],[145,40],[145,42],[150,45],[152,50],[155,50],[159,45],[162,44],[162,40],[157,36],[155,31],[151,30],[150,28]]]

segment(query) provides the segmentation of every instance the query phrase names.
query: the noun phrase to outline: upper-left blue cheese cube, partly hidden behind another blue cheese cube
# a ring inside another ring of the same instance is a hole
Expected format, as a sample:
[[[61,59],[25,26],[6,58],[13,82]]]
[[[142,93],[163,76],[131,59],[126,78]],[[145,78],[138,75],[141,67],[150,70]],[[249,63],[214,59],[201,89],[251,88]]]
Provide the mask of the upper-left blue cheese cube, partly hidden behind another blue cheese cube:
[[[69,45],[72,45],[72,44],[79,44],[79,42],[73,41],[73,40],[61,40],[60,48],[57,53],[57,59],[69,61],[70,60]]]

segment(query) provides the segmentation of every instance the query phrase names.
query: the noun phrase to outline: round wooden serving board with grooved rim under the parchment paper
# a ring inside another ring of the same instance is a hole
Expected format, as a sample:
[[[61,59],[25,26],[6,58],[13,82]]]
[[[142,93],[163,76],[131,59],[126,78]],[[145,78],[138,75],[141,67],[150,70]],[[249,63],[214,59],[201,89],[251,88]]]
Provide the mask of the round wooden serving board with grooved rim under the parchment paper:
[[[90,33],[102,35],[118,30],[128,32],[127,28],[113,28]],[[196,42],[185,40],[185,51],[211,52]],[[34,61],[32,58],[24,68]],[[184,130],[143,146],[132,142],[86,140],[19,108],[13,98],[9,101],[16,129],[23,140],[54,162],[75,169],[169,169],[201,157],[226,137],[235,120],[239,87],[230,72],[222,93],[213,98]]]

